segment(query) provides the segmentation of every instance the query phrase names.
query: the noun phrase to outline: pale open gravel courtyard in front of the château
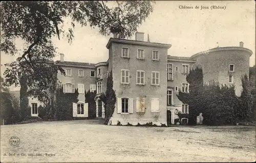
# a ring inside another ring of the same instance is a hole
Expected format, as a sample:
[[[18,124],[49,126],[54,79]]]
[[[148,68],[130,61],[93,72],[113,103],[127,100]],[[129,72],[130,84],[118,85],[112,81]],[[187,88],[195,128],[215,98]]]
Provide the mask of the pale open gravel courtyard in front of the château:
[[[255,161],[254,126],[130,127],[99,121],[1,126],[1,162]],[[19,137],[19,146],[10,145],[11,136]]]

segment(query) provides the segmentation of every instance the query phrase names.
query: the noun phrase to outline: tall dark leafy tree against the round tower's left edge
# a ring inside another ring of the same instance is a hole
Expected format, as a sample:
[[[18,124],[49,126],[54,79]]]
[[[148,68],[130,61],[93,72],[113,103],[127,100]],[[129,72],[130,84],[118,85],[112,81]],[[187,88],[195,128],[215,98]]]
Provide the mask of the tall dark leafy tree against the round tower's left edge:
[[[197,116],[202,112],[202,90],[203,90],[203,70],[197,67],[190,69],[186,76],[189,83],[189,92],[179,90],[178,99],[189,106],[188,124],[196,124]]]

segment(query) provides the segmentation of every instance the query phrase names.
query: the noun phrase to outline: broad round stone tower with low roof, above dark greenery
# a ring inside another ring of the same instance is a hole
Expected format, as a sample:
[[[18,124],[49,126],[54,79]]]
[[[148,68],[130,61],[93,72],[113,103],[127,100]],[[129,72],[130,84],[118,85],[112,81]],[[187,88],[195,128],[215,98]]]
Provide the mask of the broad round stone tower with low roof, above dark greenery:
[[[222,84],[234,84],[236,95],[242,92],[241,76],[249,76],[249,58],[252,51],[240,46],[217,47],[208,51],[199,52],[191,59],[196,60],[196,65],[202,67],[204,82],[210,80],[218,81]]]

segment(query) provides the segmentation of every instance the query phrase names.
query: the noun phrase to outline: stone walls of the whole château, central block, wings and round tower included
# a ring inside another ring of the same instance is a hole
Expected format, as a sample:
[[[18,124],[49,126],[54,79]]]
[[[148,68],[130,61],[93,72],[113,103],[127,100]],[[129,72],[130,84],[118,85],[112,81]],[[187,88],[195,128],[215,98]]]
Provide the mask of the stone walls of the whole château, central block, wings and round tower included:
[[[235,84],[236,94],[241,94],[240,77],[248,75],[252,55],[252,51],[243,48],[243,43],[239,47],[215,48],[191,57],[176,57],[167,55],[170,44],[146,42],[143,33],[137,35],[137,40],[110,38],[106,45],[109,49],[106,62],[67,62],[63,55],[57,62],[65,70],[72,69],[71,76],[58,73],[57,78],[62,84],[74,84],[75,88],[78,84],[84,85],[78,96],[80,102],[85,101],[84,89],[88,91],[91,84],[95,85],[99,118],[104,118],[104,103],[99,96],[105,92],[108,72],[112,71],[117,102],[110,125],[174,124],[178,118],[176,113],[189,112],[189,106],[179,101],[176,94],[179,90],[189,91],[186,74],[196,66],[203,68],[204,82],[216,80],[222,84]],[[138,55],[144,57],[138,59]],[[230,71],[230,65],[233,65],[233,71]],[[79,75],[79,70],[83,71],[83,76]],[[91,77],[91,71],[95,72],[94,77]],[[159,76],[159,83],[154,84],[156,76]],[[229,82],[229,76],[232,76],[232,82]]]

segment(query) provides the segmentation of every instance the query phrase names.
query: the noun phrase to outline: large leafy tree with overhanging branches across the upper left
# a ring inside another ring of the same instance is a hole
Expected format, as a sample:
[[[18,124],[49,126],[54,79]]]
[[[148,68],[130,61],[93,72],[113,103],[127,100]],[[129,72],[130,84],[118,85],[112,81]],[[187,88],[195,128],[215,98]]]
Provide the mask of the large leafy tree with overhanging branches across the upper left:
[[[6,81],[9,85],[19,85],[22,73],[26,72],[28,94],[40,101],[49,99],[46,90],[55,84],[52,80],[56,71],[65,74],[52,62],[56,55],[52,37],[66,37],[71,43],[76,24],[97,27],[102,35],[116,33],[119,38],[131,37],[153,11],[152,4],[151,1],[2,2],[1,51],[17,55],[21,50],[15,40],[26,42],[24,52],[6,70]],[[65,18],[71,19],[68,31],[63,29]]]

